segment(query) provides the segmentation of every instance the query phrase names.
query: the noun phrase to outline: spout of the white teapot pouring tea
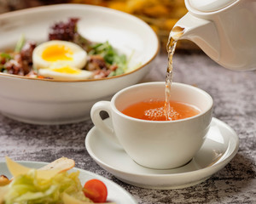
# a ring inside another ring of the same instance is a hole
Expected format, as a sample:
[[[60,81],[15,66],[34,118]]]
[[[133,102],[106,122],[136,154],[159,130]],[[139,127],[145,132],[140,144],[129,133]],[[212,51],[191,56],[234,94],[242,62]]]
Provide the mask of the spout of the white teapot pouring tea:
[[[216,26],[211,20],[185,14],[173,26],[170,36],[195,42],[210,58],[218,62],[220,42]]]

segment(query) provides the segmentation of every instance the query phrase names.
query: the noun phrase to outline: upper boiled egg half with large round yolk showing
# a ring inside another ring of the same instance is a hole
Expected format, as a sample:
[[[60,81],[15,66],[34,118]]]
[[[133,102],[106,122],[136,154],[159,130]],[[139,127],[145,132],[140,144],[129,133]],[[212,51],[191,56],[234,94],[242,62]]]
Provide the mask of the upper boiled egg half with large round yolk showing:
[[[39,44],[33,51],[32,63],[36,70],[52,66],[67,65],[82,69],[86,64],[87,53],[73,42],[48,41]]]

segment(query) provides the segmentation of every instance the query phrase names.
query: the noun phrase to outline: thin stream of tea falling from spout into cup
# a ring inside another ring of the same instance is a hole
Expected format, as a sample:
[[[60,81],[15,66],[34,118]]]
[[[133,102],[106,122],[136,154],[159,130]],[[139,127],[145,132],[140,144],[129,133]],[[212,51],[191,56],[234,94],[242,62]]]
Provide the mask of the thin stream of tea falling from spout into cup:
[[[166,120],[171,121],[172,116],[171,114],[171,87],[172,87],[172,57],[175,53],[175,48],[177,45],[177,40],[183,35],[183,28],[176,26],[172,29],[168,42],[167,42],[167,53],[168,53],[168,65],[166,71],[166,101],[165,101],[165,111],[166,111]]]

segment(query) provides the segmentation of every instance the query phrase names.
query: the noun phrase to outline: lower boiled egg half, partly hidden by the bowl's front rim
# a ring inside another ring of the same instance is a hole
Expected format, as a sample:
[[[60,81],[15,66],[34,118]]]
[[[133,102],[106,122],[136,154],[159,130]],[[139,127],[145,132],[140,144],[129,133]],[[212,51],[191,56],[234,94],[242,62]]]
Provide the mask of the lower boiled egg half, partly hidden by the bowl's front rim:
[[[61,81],[79,81],[91,78],[93,73],[70,65],[52,65],[48,69],[39,69],[38,75]]]

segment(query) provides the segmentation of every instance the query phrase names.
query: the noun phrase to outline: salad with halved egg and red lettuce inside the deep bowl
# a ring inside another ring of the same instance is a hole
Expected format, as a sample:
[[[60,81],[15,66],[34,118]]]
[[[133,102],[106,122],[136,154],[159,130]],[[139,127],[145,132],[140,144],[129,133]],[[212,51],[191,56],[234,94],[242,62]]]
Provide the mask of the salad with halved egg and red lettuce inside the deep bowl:
[[[91,42],[78,31],[78,18],[50,27],[48,40],[21,35],[15,48],[0,50],[0,72],[44,79],[78,81],[125,74],[129,59],[108,42]],[[103,35],[103,34],[102,34]]]

